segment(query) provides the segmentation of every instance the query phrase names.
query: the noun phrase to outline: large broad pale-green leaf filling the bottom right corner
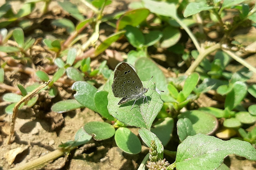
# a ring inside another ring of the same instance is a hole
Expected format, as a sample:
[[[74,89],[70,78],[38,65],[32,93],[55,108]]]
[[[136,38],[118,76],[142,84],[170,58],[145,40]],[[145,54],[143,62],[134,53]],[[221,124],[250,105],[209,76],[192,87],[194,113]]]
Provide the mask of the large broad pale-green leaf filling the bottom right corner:
[[[229,154],[256,161],[256,150],[249,142],[223,141],[213,136],[197,134],[188,136],[177,148],[176,168],[212,170],[217,169]]]

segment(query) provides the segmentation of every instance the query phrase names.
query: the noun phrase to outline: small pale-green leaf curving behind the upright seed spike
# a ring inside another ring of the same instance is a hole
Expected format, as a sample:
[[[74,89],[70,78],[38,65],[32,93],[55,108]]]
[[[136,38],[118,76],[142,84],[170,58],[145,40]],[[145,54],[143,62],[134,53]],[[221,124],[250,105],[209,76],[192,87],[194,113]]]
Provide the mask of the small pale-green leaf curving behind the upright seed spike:
[[[158,139],[158,137],[153,132],[151,132],[150,130],[145,129],[145,128],[139,129],[138,132],[139,132],[141,139],[143,140],[144,143],[146,143],[146,145],[148,147],[151,146],[150,145],[151,140],[155,141],[156,146],[157,146],[156,150],[158,152],[158,158],[163,159],[164,146],[162,145],[162,142]]]

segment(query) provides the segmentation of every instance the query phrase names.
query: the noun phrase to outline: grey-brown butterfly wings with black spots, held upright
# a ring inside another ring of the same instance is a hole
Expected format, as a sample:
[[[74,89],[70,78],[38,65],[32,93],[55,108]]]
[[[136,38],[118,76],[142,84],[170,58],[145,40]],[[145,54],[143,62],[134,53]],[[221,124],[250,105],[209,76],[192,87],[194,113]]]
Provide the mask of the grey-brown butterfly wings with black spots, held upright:
[[[144,94],[143,84],[133,68],[122,62],[116,66],[112,91],[115,97],[123,98],[118,104],[137,99]]]

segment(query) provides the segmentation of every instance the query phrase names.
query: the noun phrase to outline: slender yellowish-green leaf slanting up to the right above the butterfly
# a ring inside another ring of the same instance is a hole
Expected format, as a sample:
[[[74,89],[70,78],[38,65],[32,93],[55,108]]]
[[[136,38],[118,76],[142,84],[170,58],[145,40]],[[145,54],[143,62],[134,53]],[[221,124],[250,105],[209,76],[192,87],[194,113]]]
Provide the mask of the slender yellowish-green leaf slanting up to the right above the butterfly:
[[[97,47],[97,49],[94,52],[95,56],[105,51],[113,42],[116,42],[124,33],[125,31],[119,31],[114,34],[111,34]]]

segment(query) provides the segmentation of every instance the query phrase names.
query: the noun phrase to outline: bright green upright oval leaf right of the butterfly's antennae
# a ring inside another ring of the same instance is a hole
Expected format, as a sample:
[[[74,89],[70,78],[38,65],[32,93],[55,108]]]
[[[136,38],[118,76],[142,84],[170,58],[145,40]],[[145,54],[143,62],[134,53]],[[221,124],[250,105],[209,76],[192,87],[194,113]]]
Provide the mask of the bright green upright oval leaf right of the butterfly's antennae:
[[[188,76],[184,83],[184,87],[182,89],[182,92],[184,94],[184,97],[187,98],[188,95],[193,91],[193,89],[196,87],[197,82],[199,80],[199,75],[198,73],[192,73],[191,75]]]

